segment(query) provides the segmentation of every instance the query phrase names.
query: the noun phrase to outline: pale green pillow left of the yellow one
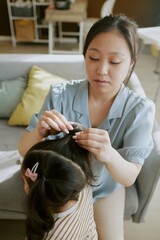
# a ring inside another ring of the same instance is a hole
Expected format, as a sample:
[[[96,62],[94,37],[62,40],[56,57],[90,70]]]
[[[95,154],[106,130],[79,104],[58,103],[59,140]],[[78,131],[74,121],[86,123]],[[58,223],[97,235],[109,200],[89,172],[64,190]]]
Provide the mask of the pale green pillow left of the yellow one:
[[[9,118],[27,86],[26,77],[0,81],[0,118]]]

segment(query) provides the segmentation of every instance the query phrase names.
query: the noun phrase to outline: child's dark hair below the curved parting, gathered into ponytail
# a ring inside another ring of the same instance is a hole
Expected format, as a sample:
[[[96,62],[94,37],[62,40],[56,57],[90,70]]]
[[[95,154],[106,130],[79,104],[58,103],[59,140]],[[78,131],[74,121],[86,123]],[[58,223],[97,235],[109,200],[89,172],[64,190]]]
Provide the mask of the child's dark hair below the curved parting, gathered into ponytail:
[[[33,182],[25,177],[30,188],[26,220],[28,240],[47,239],[54,226],[52,214],[59,212],[69,200],[78,200],[86,185],[85,175],[78,164],[49,150],[28,151],[22,163],[22,174],[37,163],[37,180]]]

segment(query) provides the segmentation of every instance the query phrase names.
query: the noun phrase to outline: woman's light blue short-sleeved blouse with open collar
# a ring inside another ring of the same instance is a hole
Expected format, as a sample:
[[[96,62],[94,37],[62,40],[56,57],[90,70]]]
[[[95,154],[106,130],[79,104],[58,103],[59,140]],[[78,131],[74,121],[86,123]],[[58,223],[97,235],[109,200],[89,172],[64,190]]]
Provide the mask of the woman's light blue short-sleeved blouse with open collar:
[[[91,127],[88,81],[75,80],[51,86],[40,113],[32,116],[26,130],[32,131],[40,115],[49,109],[61,112],[68,121]],[[143,164],[153,148],[154,112],[155,106],[151,100],[142,98],[122,85],[108,116],[99,128],[108,131],[113,148],[124,159]],[[96,186],[93,187],[94,200],[111,194],[121,186],[112,179],[100,161],[93,160],[93,170],[98,177]]]

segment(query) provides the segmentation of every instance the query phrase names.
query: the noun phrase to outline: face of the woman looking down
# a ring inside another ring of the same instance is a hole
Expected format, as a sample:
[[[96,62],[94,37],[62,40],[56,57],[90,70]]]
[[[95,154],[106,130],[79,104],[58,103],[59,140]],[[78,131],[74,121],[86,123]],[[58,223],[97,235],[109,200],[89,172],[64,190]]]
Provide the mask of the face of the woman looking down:
[[[90,91],[117,94],[131,67],[127,42],[117,31],[98,34],[86,52]]]

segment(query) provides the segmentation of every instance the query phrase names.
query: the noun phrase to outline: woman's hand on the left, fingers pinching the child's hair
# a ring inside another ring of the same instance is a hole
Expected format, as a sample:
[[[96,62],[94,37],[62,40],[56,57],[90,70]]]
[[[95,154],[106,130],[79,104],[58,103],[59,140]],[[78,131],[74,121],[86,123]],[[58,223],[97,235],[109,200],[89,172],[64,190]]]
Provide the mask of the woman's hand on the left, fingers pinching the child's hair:
[[[54,135],[58,132],[69,133],[69,130],[73,130],[70,122],[55,109],[45,111],[38,122],[37,130],[42,138],[48,135]]]

